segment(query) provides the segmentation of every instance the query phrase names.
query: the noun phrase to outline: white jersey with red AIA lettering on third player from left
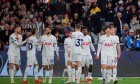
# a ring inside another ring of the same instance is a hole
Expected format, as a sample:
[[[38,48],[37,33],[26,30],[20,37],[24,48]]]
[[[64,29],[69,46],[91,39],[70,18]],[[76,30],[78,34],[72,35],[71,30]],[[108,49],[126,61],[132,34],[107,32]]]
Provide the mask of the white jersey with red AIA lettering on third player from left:
[[[56,37],[51,35],[43,35],[41,37],[41,42],[43,43],[43,50],[42,50],[42,55],[44,56],[54,56],[54,45],[57,48],[57,40]],[[56,49],[56,54],[58,56],[58,49]]]

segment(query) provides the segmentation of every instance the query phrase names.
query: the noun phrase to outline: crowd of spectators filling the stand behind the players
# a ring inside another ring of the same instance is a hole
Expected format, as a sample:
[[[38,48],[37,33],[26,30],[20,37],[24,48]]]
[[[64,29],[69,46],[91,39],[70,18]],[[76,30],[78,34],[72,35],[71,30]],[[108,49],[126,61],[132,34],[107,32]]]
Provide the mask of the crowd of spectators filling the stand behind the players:
[[[75,24],[86,26],[89,35],[101,35],[105,26],[114,24],[122,42],[127,36],[132,44],[140,39],[140,0],[48,0],[45,5],[43,1],[0,0],[0,43],[9,45],[14,28],[21,26],[23,40],[31,28],[37,28],[39,38],[50,27],[63,44]]]

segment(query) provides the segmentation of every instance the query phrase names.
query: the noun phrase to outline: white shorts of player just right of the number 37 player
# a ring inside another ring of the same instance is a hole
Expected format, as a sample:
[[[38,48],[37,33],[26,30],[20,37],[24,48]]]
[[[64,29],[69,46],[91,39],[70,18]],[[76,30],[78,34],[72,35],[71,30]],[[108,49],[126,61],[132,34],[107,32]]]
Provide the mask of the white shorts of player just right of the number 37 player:
[[[89,65],[93,65],[93,59],[91,54],[86,54],[82,56],[82,67],[89,67]]]

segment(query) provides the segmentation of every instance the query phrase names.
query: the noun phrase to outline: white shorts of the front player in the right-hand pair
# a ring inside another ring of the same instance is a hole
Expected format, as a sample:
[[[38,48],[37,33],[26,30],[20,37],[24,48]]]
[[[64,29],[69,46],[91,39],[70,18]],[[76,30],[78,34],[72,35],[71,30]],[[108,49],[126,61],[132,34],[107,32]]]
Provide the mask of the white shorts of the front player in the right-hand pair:
[[[101,64],[106,64],[107,66],[113,65],[114,57],[111,54],[102,54],[101,55]]]

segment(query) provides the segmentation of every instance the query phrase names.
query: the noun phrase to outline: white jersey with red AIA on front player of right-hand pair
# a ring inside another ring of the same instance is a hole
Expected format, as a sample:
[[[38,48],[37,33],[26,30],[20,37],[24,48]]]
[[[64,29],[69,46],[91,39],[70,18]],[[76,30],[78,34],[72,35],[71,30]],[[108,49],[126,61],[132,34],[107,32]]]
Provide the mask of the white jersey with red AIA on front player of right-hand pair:
[[[112,54],[114,56],[114,44],[116,44],[113,36],[107,37],[106,35],[101,36],[99,44],[102,45],[101,54]],[[99,56],[100,50],[98,49],[97,56]]]

